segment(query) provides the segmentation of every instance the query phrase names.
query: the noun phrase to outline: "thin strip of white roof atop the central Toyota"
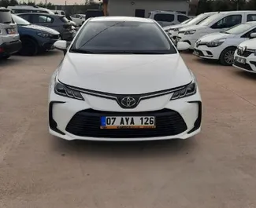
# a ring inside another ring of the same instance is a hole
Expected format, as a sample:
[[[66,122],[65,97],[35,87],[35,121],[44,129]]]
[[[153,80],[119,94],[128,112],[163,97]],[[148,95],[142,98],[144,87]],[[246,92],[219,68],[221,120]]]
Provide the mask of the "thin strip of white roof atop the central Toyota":
[[[132,17],[132,16],[98,16],[92,18],[90,21],[132,21],[132,22],[142,22],[142,23],[152,23],[154,20],[142,18],[142,17]]]

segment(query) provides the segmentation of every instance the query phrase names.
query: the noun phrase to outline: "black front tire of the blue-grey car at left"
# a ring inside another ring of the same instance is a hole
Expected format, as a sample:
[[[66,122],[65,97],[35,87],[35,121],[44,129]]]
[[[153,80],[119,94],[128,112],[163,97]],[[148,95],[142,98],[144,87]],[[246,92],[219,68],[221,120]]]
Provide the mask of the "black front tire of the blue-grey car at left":
[[[39,53],[39,47],[37,42],[32,38],[20,38],[22,42],[22,48],[20,49],[20,55],[26,57],[35,56]]]

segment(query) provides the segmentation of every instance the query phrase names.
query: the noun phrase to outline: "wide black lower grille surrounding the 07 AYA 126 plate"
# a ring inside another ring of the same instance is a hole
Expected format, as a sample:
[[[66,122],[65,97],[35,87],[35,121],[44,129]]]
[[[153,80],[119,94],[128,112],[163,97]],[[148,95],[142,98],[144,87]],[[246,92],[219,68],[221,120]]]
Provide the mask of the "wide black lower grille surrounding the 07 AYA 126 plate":
[[[101,130],[101,116],[155,116],[156,129],[138,130]],[[187,130],[184,119],[176,111],[163,109],[139,113],[121,113],[94,111],[92,109],[79,111],[72,117],[66,131],[80,137],[132,138],[132,137],[165,137],[183,133]]]

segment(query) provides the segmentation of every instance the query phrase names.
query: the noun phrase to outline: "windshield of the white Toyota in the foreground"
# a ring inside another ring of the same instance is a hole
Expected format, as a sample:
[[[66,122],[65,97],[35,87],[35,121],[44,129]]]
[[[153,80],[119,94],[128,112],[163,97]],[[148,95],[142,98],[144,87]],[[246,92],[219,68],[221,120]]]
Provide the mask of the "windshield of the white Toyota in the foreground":
[[[77,53],[176,53],[164,32],[154,23],[90,21],[71,47]]]

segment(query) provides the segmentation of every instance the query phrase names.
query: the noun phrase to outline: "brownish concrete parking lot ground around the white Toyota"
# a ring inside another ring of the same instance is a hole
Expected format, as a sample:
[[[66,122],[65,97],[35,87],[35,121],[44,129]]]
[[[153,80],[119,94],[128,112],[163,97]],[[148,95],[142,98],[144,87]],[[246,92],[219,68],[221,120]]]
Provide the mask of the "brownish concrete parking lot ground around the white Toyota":
[[[256,207],[256,75],[184,53],[202,93],[202,133],[69,142],[47,129],[62,54],[0,63],[0,207]]]

